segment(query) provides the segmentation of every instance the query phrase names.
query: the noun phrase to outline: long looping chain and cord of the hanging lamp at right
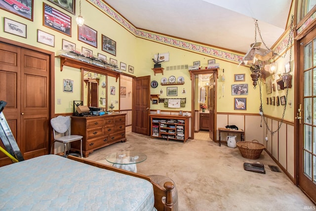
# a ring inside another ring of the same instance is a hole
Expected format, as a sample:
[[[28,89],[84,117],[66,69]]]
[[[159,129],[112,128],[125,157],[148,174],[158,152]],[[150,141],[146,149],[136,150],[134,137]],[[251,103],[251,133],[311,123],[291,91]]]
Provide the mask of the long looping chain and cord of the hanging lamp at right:
[[[260,34],[260,30],[259,30],[259,27],[258,27],[258,24],[257,24],[257,21],[255,22],[255,25],[256,27],[258,28],[258,31],[259,31],[259,35],[260,35],[260,38],[261,38],[261,34]],[[293,15],[292,15],[292,18],[291,18],[291,25],[290,25],[290,31],[289,31],[289,39],[288,39],[288,42],[287,42],[287,47],[286,47],[286,51],[285,51],[285,54],[284,56],[286,55],[287,53],[287,50],[289,49],[289,45],[291,44],[290,46],[290,56],[289,56],[289,65],[290,65],[290,69],[288,71],[288,75],[291,73],[292,69],[291,69],[291,60],[292,60],[292,41],[293,41],[293,31],[294,28],[293,28]],[[256,36],[256,35],[255,35]],[[261,38],[262,39],[262,38]],[[264,43],[264,42],[263,42]],[[264,43],[264,45],[267,47],[267,45]],[[268,48],[268,47],[267,47]],[[269,49],[269,48],[268,48]],[[261,77],[261,76],[260,76]],[[287,96],[288,96],[288,89],[289,89],[289,79],[290,77],[287,77],[286,78],[286,94],[285,94],[285,105],[284,105],[284,108],[283,108],[283,114],[282,114],[282,118],[281,118],[281,122],[280,124],[278,125],[277,129],[275,131],[272,131],[272,129],[270,129],[270,127],[268,126],[268,123],[267,123],[267,120],[266,118],[264,117],[264,111],[263,111],[263,106],[262,106],[262,93],[261,93],[261,87],[262,87],[262,81],[259,80],[259,91],[260,91],[260,107],[259,107],[259,111],[260,111],[260,114],[261,114],[261,123],[260,123],[260,127],[262,127],[262,119],[264,120],[264,123],[267,127],[267,132],[269,131],[271,133],[271,135],[274,135],[280,128],[281,128],[281,125],[283,124],[283,121],[284,121],[284,116],[285,116],[285,110],[286,110],[286,105],[287,105]],[[283,81],[284,82],[284,81]]]

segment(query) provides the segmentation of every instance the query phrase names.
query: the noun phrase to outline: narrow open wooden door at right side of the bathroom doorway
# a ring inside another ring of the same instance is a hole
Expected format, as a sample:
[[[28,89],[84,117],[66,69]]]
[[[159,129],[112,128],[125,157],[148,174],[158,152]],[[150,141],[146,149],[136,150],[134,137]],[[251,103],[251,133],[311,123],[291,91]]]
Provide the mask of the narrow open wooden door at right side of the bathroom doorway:
[[[214,137],[214,122],[215,122],[215,115],[214,115],[214,107],[215,107],[215,101],[216,101],[216,88],[215,88],[215,76],[216,73],[213,73],[210,76],[209,79],[209,91],[208,91],[208,97],[209,97],[209,137],[212,140],[215,140]]]

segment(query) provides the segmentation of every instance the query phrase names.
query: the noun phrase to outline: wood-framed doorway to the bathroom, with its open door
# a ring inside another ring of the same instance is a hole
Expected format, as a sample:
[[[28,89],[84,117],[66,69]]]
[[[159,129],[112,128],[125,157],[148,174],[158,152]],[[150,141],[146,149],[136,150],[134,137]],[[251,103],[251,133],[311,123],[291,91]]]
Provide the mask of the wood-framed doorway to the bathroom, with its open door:
[[[192,139],[195,138],[195,131],[199,130],[199,116],[200,116],[200,105],[207,105],[208,112],[205,113],[208,119],[208,137],[212,140],[216,140],[216,79],[218,77],[218,69],[205,69],[205,70],[195,70],[190,71],[191,79],[192,79],[192,127],[191,134]],[[202,84],[200,87],[197,86],[196,78],[200,75],[206,76],[207,82],[205,85]],[[208,83],[208,84],[206,84]],[[205,94],[207,97],[205,98]],[[200,99],[198,99],[200,98]],[[197,106],[197,108],[196,108]],[[202,114],[203,115],[203,114]],[[203,120],[206,121],[206,118]],[[202,133],[205,133],[201,131]],[[201,134],[201,137],[205,137],[205,135]]]

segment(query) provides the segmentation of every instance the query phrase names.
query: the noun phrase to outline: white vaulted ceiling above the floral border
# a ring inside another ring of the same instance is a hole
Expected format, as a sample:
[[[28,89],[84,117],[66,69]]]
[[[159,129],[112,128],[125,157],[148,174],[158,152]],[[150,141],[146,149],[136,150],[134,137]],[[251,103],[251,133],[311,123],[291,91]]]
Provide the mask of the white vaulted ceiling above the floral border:
[[[136,28],[247,52],[258,20],[271,47],[286,29],[292,0],[106,0]],[[257,33],[257,42],[261,39]]]

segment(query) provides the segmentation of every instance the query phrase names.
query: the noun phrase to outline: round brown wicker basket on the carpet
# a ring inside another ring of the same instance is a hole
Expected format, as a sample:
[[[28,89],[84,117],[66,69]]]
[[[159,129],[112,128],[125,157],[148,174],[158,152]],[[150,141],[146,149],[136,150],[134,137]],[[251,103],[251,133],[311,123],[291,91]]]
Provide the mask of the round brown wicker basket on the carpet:
[[[262,153],[262,150],[266,148],[263,144],[260,144],[258,140],[238,141],[237,147],[242,157],[251,160],[258,159]]]

